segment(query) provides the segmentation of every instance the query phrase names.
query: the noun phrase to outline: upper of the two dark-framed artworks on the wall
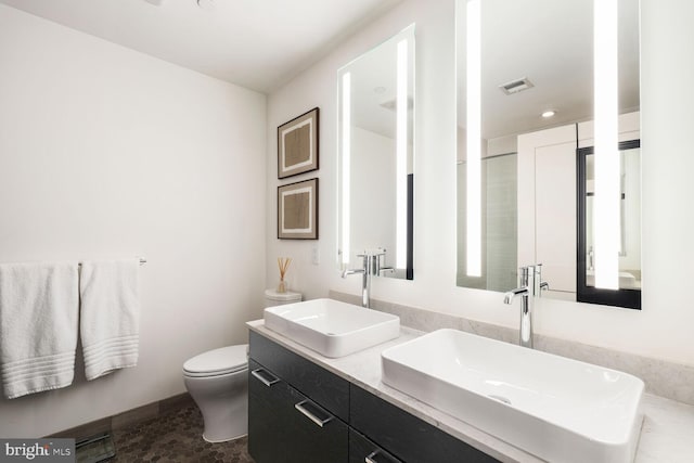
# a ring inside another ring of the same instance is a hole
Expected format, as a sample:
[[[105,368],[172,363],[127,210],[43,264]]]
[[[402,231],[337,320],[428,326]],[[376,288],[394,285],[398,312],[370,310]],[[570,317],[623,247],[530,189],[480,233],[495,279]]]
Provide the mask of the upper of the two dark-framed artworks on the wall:
[[[319,108],[278,127],[278,178],[318,169]]]

